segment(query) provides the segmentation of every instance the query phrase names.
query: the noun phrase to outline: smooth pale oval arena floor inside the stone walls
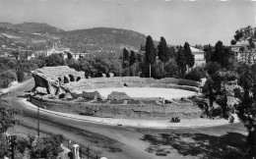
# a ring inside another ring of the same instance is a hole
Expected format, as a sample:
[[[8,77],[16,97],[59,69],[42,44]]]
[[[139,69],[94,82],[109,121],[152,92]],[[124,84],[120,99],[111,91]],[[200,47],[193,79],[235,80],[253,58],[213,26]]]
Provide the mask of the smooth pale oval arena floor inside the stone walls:
[[[125,92],[130,97],[162,97],[164,99],[187,97],[196,95],[196,92],[174,88],[160,87],[113,87],[90,89],[87,91],[98,91],[103,97],[107,97],[112,91]]]

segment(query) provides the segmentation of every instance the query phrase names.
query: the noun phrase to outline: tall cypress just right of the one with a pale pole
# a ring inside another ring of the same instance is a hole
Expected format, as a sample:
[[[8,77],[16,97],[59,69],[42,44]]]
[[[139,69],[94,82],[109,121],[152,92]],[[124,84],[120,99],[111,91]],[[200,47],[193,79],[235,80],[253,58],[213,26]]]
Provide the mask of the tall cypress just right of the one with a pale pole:
[[[159,49],[159,59],[162,63],[162,73],[163,73],[163,66],[169,60],[169,50],[166,44],[164,37],[160,37],[160,44],[158,46]]]

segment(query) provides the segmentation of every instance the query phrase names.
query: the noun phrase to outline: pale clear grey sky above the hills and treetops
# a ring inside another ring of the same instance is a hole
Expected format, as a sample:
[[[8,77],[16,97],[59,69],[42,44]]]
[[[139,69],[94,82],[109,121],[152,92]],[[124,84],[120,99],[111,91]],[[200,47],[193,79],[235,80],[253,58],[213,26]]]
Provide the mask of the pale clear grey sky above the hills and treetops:
[[[64,30],[132,29],[168,44],[225,45],[241,27],[256,27],[248,0],[0,0],[0,22],[46,23]]]

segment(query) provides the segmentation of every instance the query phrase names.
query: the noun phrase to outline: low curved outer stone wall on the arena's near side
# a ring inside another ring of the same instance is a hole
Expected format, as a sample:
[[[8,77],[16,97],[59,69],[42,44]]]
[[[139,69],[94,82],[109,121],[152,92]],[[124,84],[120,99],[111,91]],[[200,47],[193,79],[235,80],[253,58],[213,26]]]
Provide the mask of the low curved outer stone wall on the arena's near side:
[[[181,119],[199,118],[203,111],[192,102],[171,104],[100,104],[60,99],[37,99],[31,101],[39,107],[64,113],[80,114],[102,118],[128,119]]]

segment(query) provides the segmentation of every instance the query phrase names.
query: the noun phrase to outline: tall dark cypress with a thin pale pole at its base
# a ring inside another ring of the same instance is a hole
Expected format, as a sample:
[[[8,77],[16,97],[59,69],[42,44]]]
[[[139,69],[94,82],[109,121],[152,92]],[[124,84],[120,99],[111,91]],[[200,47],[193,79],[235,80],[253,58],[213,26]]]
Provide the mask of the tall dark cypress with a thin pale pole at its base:
[[[146,51],[145,63],[146,63],[146,65],[149,65],[150,78],[151,78],[151,67],[152,67],[152,65],[155,64],[155,61],[156,61],[156,49],[155,49],[155,45],[154,45],[153,38],[151,37],[151,35],[147,36],[145,51]]]

